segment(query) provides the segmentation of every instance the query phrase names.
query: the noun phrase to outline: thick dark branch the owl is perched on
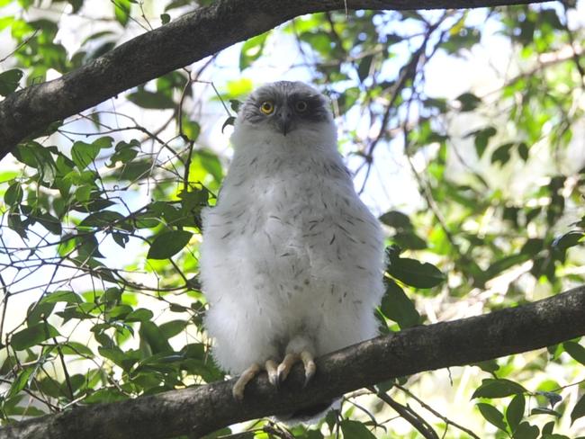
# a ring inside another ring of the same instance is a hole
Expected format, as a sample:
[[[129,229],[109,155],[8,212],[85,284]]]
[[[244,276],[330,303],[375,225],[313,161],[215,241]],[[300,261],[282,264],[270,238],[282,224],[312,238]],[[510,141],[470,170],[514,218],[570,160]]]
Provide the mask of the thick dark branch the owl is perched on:
[[[293,411],[350,390],[413,373],[477,363],[585,335],[585,286],[518,308],[381,336],[326,355],[302,390],[296,367],[280,391],[266,374],[231,396],[233,381],[174,390],[112,404],[75,408],[0,430],[0,439],[199,437],[247,419]]]

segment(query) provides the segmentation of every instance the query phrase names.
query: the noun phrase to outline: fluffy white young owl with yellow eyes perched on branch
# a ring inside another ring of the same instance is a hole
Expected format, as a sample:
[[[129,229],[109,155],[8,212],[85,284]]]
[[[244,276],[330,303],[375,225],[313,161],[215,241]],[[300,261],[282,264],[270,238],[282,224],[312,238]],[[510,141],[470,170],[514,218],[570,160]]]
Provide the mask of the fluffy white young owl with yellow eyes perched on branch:
[[[278,387],[294,363],[376,336],[383,233],[338,153],[329,101],[310,85],[261,86],[240,106],[234,156],[202,211],[200,277],[213,356]]]

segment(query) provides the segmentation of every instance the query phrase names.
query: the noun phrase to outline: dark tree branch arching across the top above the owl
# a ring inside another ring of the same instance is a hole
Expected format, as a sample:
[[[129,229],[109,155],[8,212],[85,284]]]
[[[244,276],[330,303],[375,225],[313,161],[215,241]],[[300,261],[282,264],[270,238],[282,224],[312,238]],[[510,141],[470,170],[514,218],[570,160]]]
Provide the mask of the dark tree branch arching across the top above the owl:
[[[475,8],[545,0],[218,0],[121,44],[67,75],[0,103],[0,159],[50,123],[115,97],[305,13],[338,9]]]

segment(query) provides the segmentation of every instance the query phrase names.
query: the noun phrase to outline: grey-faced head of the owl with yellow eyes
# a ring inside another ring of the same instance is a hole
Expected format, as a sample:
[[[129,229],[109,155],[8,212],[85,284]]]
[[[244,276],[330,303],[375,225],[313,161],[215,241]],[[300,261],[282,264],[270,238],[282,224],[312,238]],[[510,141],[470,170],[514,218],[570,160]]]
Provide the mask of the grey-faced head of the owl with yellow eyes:
[[[250,94],[238,113],[238,124],[284,137],[298,130],[322,130],[332,124],[327,98],[302,82],[266,84]]]

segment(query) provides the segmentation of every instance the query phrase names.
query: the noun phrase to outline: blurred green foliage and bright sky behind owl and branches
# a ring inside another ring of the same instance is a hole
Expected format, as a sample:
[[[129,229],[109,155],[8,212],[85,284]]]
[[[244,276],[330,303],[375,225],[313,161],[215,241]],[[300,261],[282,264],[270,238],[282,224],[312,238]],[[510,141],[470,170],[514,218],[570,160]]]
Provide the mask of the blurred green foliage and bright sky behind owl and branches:
[[[0,0],[0,94],[193,7]],[[202,327],[200,211],[238,102],[270,80],[331,98],[388,237],[383,333],[583,284],[584,17],[571,1],[302,16],[23,141],[0,164],[2,423],[222,379]],[[575,438],[583,364],[572,340],[356,391],[319,426],[210,437]]]

